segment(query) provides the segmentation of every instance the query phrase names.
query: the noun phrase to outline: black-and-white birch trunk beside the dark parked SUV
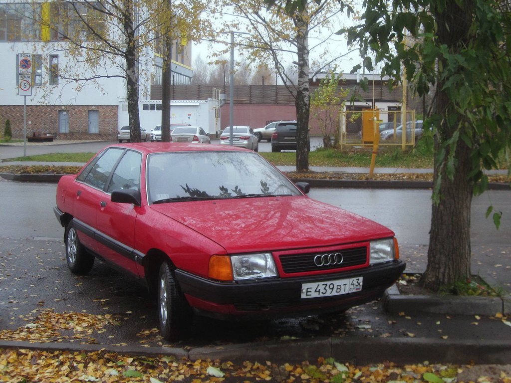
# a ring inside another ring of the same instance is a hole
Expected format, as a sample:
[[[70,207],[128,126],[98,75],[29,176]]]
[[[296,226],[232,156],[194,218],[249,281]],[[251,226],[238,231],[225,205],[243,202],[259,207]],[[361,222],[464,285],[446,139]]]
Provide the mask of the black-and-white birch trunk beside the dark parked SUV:
[[[296,89],[296,171],[309,170],[309,26],[307,11],[297,12],[295,25],[298,28],[298,85]]]

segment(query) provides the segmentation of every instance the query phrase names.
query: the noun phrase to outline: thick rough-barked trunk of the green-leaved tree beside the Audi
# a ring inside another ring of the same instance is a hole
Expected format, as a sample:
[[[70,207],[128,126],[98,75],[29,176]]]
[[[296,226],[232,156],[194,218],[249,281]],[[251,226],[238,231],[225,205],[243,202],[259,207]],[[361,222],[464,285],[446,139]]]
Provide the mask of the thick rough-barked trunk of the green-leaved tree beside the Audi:
[[[448,0],[442,12],[435,18],[438,24],[438,43],[449,46],[451,53],[459,52],[469,39],[471,25],[471,2],[464,2],[463,8],[456,0]],[[445,58],[439,65],[447,65]],[[462,74],[462,69],[458,70]],[[436,113],[444,116],[435,135],[435,152],[446,153],[435,158],[434,182],[440,182],[437,198],[433,199],[431,232],[428,250],[428,266],[421,283],[429,289],[453,285],[466,281],[470,276],[470,210],[473,196],[473,183],[470,174],[473,170],[471,149],[458,138],[453,146],[446,145],[457,129],[463,126],[463,116],[458,114],[455,105],[449,100],[448,89],[444,89],[448,79],[438,82]],[[445,116],[457,114],[456,123],[449,123]],[[463,131],[466,134],[470,132]],[[454,151],[454,153],[452,153]],[[448,173],[449,161],[455,159],[455,169]],[[445,238],[449,238],[446,241]]]

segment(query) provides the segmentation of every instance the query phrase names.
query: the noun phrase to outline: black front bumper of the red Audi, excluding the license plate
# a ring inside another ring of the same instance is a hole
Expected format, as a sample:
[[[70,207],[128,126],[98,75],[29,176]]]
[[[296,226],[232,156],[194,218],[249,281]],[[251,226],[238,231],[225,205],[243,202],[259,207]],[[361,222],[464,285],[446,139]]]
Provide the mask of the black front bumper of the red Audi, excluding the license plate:
[[[404,261],[395,260],[349,272],[237,282],[209,280],[181,270],[176,270],[175,275],[191,306],[203,315],[273,318],[338,312],[381,298],[405,267]],[[303,283],[352,277],[363,277],[361,291],[331,297],[300,298]]]

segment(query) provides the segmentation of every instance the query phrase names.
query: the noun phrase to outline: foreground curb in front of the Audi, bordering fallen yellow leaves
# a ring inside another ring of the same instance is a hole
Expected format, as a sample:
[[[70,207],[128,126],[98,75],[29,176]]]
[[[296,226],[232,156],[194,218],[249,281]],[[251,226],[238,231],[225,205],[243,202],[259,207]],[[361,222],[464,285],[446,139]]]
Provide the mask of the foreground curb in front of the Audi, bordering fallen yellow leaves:
[[[30,343],[0,340],[2,349],[31,349],[48,352],[114,352],[130,356],[173,355],[191,361],[220,360],[296,364],[318,357],[333,357],[341,363],[371,364],[388,360],[398,364],[430,363],[508,364],[511,344],[492,340],[443,340],[415,338],[318,337],[311,340],[255,342],[221,347],[172,348],[112,346],[74,343]]]

